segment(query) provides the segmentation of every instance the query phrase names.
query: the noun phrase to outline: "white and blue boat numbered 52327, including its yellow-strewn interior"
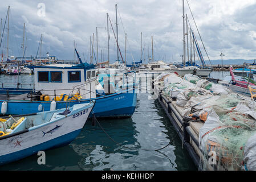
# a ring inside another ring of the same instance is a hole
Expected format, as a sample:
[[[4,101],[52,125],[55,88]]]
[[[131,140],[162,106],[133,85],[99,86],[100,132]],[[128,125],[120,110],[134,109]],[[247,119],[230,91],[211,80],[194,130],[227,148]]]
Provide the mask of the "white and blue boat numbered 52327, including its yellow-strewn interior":
[[[94,105],[95,101],[92,101],[1,119],[0,165],[69,144],[83,129]]]

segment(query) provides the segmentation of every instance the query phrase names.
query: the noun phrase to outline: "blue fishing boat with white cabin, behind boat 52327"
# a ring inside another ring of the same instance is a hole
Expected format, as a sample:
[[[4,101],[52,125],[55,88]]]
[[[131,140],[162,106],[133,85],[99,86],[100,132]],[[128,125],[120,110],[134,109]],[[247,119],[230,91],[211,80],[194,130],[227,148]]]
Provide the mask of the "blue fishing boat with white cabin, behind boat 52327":
[[[29,114],[38,112],[38,105],[44,110],[55,110],[95,100],[96,117],[131,117],[135,111],[137,86],[131,84],[104,84],[103,94],[96,93],[94,65],[81,63],[51,64],[34,67],[35,88],[33,93],[6,96],[0,100],[2,114]],[[125,77],[135,73],[124,73]],[[134,82],[135,83],[135,82]]]

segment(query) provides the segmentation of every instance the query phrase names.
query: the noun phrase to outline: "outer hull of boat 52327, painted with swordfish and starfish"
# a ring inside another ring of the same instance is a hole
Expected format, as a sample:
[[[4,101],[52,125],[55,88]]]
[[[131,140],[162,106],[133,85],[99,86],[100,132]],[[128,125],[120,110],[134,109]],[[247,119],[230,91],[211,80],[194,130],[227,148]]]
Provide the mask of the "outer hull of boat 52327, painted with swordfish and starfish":
[[[83,129],[92,107],[93,105],[81,107],[64,117],[56,115],[57,118],[52,122],[30,127],[29,131],[13,137],[0,138],[0,164],[19,160],[38,151],[64,146],[72,142]]]

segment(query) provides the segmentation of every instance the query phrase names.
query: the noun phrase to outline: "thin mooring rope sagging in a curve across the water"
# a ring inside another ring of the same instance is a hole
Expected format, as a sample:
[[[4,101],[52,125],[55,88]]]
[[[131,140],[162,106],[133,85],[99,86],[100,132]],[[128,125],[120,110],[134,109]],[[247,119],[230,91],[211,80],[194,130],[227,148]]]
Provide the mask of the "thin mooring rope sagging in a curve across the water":
[[[93,112],[93,111],[92,111]],[[93,119],[98,123],[98,125],[100,126],[101,130],[103,130],[103,132],[107,135],[107,137],[109,139],[111,139],[114,143],[116,143],[117,145],[119,145],[120,147],[124,147],[124,148],[128,148],[128,149],[131,149],[131,150],[135,150],[135,149],[139,149],[139,147],[127,147],[127,146],[124,146],[123,144],[120,144],[118,142],[116,142],[112,137],[109,136],[109,134],[103,129],[103,127],[100,125],[100,122],[97,121],[97,118],[95,117],[95,114],[92,113],[92,115],[94,115]],[[178,130],[178,133],[180,133],[181,129],[182,129],[183,125],[181,125],[180,129]],[[141,150],[145,150],[145,151],[160,151],[166,147],[168,147],[170,144],[172,144],[173,140],[176,139],[176,137],[178,136],[178,133],[173,137],[172,140],[170,140],[170,142],[168,144],[166,144],[166,146],[164,147],[161,147],[159,149],[144,149],[144,148],[141,148]]]

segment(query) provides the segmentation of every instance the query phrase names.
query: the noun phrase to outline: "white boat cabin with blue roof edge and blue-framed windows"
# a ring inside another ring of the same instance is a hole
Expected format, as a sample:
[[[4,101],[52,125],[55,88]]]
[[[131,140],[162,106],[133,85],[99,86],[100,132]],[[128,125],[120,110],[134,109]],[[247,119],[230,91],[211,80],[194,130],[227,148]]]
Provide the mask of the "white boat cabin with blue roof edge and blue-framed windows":
[[[61,94],[79,93],[83,99],[95,98],[94,65],[83,64],[50,64],[34,67],[35,90],[48,94],[50,100]],[[90,90],[92,92],[90,92]]]

